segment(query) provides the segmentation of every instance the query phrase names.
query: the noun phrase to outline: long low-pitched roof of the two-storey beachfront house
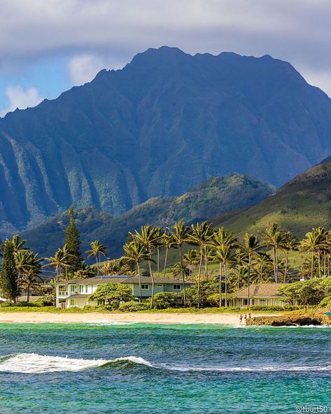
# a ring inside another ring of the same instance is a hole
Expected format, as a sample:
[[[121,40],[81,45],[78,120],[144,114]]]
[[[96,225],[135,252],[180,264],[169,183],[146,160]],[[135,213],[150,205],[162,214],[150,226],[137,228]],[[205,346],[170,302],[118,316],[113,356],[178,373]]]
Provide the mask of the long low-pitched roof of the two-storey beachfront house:
[[[62,280],[61,282],[57,282],[57,285],[101,285],[103,283],[139,283],[138,276],[106,276],[102,277],[99,276],[97,278],[89,278],[89,279],[73,279],[73,280]],[[141,283],[152,283],[152,278],[141,276]],[[183,285],[183,281],[174,278],[154,278],[155,285]],[[185,280],[185,284],[187,285],[194,285],[193,282],[188,282]]]

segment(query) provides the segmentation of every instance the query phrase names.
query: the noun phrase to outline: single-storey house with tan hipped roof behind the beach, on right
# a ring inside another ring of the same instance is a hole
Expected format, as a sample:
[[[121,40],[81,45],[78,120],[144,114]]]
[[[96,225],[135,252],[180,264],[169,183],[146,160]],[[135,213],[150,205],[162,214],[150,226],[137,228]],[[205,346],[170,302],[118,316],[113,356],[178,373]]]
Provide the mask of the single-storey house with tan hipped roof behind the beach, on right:
[[[249,305],[258,306],[283,306],[279,287],[284,283],[253,283],[249,288]],[[244,287],[232,294],[232,306],[243,308],[248,306],[248,287]]]

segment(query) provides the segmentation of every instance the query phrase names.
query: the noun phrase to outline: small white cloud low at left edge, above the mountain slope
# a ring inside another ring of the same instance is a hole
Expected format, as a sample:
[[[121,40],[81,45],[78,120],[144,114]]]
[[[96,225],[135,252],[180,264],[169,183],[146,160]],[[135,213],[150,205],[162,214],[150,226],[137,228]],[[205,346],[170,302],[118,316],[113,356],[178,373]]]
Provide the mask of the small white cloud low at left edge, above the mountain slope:
[[[0,110],[0,116],[12,112],[16,108],[25,109],[36,106],[43,100],[43,97],[39,95],[36,87],[30,87],[24,90],[21,85],[10,85],[6,87],[6,97],[8,99],[8,107]]]

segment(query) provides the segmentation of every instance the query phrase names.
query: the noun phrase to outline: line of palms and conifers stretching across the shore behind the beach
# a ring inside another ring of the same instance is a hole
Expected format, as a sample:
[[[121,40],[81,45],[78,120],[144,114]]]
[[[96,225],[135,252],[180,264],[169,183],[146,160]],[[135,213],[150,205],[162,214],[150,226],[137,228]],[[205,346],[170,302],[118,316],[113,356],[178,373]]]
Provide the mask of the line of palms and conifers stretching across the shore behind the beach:
[[[103,274],[136,274],[139,277],[141,300],[141,277],[148,273],[152,282],[151,306],[153,307],[155,273],[157,278],[168,276],[168,257],[171,249],[178,250],[178,263],[172,268],[175,277],[183,283],[183,304],[186,306],[186,280],[197,285],[197,307],[200,307],[202,281],[211,278],[209,266],[218,264],[218,302],[228,306],[228,294],[251,283],[286,283],[301,276],[323,278],[330,276],[331,233],[323,227],[309,231],[302,241],[279,224],[271,223],[260,234],[245,234],[239,237],[223,227],[214,230],[208,222],[191,226],[179,221],[172,228],[162,229],[146,224],[140,231],[129,233],[123,246],[124,255],[119,259],[101,262],[106,257],[106,245],[99,240],[90,243],[87,258],[94,257],[95,266],[87,266],[81,254],[79,230],[75,224],[73,208],[69,209],[69,226],[63,248],[55,255],[39,259],[38,255],[25,247],[26,241],[19,236],[6,239],[1,245],[3,254],[0,274],[2,296],[15,301],[20,288],[27,290],[38,285],[38,276],[43,267],[55,269],[56,280],[81,279]],[[300,250],[307,254],[299,272],[290,271],[289,255]],[[280,258],[280,252],[283,257]],[[161,261],[163,257],[163,262]],[[42,265],[43,262],[46,262]],[[161,263],[162,262],[162,263]],[[147,266],[148,270],[142,269]],[[214,278],[215,279],[215,278]]]

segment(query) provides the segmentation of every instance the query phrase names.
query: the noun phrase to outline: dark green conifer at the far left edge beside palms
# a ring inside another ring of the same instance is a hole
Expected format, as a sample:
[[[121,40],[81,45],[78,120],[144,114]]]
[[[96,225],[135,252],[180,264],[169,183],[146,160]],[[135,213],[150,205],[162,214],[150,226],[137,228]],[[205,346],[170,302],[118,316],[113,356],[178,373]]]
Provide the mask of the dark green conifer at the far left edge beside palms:
[[[18,273],[15,264],[13,243],[6,239],[3,247],[2,270],[0,273],[1,296],[16,301],[18,291]]]

